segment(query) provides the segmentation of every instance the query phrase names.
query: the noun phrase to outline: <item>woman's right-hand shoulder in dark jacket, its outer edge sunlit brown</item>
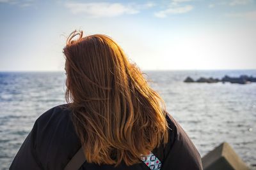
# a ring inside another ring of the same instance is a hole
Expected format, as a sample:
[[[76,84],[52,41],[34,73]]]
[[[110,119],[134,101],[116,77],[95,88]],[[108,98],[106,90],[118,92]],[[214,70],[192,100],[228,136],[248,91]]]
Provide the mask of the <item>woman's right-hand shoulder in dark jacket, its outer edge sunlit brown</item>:
[[[163,169],[202,169],[200,153],[181,125],[166,112],[169,143],[164,148]]]

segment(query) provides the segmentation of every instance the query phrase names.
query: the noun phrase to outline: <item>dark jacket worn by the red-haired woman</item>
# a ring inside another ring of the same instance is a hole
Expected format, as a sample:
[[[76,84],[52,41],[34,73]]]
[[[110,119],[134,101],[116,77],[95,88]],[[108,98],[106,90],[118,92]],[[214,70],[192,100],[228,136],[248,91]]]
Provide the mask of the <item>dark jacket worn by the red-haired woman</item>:
[[[51,108],[35,122],[10,169],[64,169],[73,155],[81,148],[79,138],[74,131],[71,111],[67,104]],[[162,162],[161,170],[166,169],[202,169],[201,157],[182,127],[167,114],[170,130],[170,142],[155,148],[152,153]],[[143,163],[118,167],[97,165],[84,162],[81,169],[132,169],[148,170]]]

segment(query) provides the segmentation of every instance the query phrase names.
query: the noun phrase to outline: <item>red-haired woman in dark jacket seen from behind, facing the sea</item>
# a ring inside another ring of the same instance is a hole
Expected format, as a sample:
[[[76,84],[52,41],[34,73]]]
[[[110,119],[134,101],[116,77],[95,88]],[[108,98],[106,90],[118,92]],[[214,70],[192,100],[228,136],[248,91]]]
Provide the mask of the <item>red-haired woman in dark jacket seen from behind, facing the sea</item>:
[[[74,31],[63,53],[67,104],[36,120],[10,169],[202,169],[186,132],[113,39]]]

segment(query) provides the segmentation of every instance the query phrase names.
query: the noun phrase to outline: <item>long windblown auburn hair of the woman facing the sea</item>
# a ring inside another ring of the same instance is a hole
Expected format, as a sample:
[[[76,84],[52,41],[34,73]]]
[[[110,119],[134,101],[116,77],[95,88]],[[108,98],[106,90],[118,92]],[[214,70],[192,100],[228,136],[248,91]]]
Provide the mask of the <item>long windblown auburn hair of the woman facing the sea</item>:
[[[74,31],[63,53],[65,99],[87,162],[131,166],[168,142],[163,99],[113,39]]]

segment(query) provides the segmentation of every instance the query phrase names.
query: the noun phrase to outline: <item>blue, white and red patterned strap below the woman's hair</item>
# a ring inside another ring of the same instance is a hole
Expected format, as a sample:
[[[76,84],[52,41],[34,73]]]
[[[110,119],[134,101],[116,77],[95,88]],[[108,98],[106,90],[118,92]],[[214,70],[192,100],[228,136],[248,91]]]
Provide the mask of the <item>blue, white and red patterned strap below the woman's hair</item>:
[[[161,161],[152,152],[149,152],[148,155],[141,156],[141,160],[152,170],[161,169]]]

